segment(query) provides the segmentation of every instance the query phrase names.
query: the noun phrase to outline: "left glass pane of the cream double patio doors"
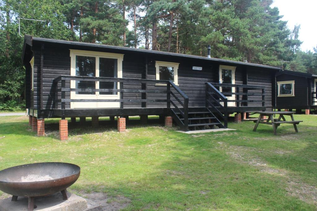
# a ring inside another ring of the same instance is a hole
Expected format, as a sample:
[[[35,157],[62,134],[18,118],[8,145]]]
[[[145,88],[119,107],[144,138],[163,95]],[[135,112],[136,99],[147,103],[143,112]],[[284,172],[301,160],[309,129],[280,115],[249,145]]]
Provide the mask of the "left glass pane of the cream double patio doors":
[[[76,56],[76,76],[95,76],[96,58],[89,56]],[[94,81],[76,81],[77,89],[95,89]],[[76,94],[94,95],[95,92],[80,91]]]

